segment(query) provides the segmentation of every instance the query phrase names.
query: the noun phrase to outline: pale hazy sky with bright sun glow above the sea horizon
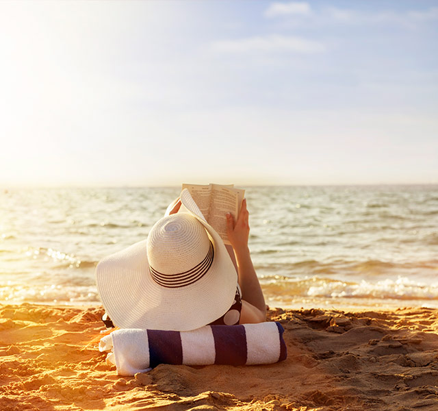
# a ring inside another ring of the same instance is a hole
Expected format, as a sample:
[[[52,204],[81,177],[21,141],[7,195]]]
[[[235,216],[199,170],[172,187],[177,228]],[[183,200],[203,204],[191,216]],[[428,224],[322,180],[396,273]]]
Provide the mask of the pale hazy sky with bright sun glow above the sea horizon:
[[[0,186],[438,184],[438,3],[1,1]]]

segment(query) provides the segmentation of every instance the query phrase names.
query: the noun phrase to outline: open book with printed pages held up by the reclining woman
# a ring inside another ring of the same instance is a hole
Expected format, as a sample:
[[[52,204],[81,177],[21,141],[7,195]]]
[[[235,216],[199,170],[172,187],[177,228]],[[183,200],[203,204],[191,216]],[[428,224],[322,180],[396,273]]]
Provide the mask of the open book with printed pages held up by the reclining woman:
[[[225,244],[231,244],[227,236],[227,212],[234,220],[237,219],[245,190],[234,188],[233,184],[222,186],[222,184],[183,184],[182,190],[187,188],[192,195],[199,210],[220,235]]]

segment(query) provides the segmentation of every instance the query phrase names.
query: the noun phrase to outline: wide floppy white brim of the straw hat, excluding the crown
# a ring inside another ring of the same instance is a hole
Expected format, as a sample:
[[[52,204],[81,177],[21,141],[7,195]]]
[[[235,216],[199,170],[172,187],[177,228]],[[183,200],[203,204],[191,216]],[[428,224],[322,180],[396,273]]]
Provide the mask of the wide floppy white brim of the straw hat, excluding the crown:
[[[231,307],[237,273],[224,242],[205,221],[188,190],[181,209],[206,229],[214,247],[207,274],[189,286],[165,288],[150,275],[147,240],[103,258],[96,267],[96,285],[107,314],[120,328],[188,331],[207,325]]]

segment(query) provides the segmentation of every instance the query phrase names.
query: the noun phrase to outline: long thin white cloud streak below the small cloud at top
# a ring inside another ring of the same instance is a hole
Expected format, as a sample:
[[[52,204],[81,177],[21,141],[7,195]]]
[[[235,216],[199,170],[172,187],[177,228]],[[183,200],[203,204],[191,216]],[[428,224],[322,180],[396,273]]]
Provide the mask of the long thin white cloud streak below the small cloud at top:
[[[321,42],[296,36],[255,36],[237,40],[220,40],[213,43],[214,51],[220,53],[261,53],[289,51],[292,53],[320,53],[325,51]]]

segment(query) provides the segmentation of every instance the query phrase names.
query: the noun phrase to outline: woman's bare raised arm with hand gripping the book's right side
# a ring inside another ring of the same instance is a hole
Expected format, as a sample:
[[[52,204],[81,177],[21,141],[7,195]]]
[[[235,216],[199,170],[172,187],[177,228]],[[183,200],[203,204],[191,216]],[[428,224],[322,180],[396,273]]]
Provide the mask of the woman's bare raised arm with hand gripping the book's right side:
[[[244,300],[240,323],[261,323],[266,319],[266,303],[248,248],[248,219],[249,213],[244,199],[237,221],[234,221],[231,214],[227,214],[227,232],[234,249],[239,285]]]

